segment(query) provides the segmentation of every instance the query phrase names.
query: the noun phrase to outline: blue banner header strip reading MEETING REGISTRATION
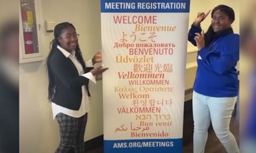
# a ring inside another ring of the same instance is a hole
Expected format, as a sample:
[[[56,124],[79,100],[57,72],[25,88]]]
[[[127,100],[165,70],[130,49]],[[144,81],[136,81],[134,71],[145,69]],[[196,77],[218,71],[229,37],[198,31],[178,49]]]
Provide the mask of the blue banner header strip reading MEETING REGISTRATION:
[[[101,0],[101,12],[189,12],[189,0]]]

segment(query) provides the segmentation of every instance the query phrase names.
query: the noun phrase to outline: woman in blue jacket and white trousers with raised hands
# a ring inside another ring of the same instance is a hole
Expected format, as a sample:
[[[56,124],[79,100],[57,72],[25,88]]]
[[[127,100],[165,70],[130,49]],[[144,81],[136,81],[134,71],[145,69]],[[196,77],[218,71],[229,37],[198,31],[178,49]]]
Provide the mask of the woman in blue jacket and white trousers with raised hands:
[[[232,8],[219,5],[211,12],[211,25],[204,34],[200,23],[208,13],[198,13],[188,39],[198,48],[196,77],[193,86],[194,153],[204,152],[210,122],[227,152],[239,152],[229,130],[238,96],[239,35],[231,24]]]

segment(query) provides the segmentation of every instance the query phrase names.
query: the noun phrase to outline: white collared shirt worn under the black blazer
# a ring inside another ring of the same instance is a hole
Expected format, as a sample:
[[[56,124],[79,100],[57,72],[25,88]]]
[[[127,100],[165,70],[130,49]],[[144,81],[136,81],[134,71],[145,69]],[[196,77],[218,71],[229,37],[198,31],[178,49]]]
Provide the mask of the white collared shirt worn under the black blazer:
[[[93,81],[93,83],[96,83],[96,79],[95,79],[95,77],[93,77],[91,72],[85,73],[83,71],[81,63],[77,60],[77,58],[75,56],[75,50],[72,50],[72,54],[71,54],[71,53],[67,52],[67,50],[61,48],[59,45],[57,45],[57,48],[60,50],[60,52],[62,52],[63,55],[65,55],[66,58],[70,58],[70,60],[75,65],[79,75],[81,75],[87,79],[90,79],[91,81]],[[92,60],[89,60],[88,62],[86,62],[86,67],[93,67]],[[55,119],[55,116],[58,113],[63,113],[63,114],[72,116],[74,118],[80,118],[82,115],[85,115],[89,111],[89,99],[88,99],[85,85],[82,85],[81,90],[82,90],[82,101],[81,101],[79,110],[67,109],[60,105],[52,103],[53,119]]]

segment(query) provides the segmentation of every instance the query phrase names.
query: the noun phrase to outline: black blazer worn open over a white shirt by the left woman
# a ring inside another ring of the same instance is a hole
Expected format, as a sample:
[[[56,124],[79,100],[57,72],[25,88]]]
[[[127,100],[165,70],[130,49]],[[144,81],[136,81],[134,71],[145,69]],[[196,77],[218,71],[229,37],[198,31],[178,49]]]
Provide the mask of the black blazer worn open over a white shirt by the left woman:
[[[55,94],[52,103],[72,110],[79,110],[82,100],[81,86],[88,86],[88,79],[78,75],[70,58],[65,57],[59,49],[52,50],[49,68],[55,81]],[[86,68],[85,73],[92,68]]]

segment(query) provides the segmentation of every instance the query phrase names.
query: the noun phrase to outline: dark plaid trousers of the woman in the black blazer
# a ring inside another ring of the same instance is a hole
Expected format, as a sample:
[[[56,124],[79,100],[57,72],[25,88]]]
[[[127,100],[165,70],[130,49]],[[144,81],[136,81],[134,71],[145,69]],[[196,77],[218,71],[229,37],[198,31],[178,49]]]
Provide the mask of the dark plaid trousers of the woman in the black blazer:
[[[55,153],[68,153],[73,149],[75,153],[84,153],[85,127],[87,123],[87,113],[80,118],[73,118],[63,113],[56,115],[60,129],[60,145]]]

